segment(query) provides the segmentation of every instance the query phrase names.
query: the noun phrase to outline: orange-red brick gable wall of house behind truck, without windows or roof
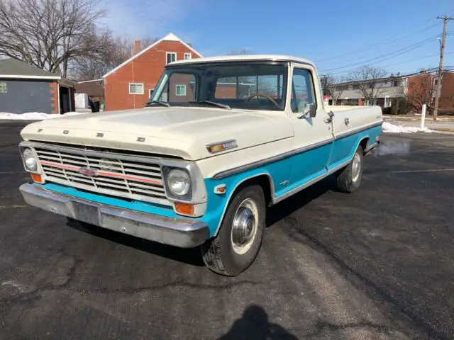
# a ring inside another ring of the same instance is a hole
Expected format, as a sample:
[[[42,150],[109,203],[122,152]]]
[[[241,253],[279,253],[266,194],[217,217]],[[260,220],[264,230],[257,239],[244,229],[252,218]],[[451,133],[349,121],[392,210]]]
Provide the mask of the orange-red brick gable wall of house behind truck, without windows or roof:
[[[165,67],[165,52],[177,52],[177,60],[184,60],[184,53],[200,57],[179,41],[164,40],[153,46],[104,79],[106,111],[143,108]],[[143,94],[129,94],[129,83],[143,83]]]

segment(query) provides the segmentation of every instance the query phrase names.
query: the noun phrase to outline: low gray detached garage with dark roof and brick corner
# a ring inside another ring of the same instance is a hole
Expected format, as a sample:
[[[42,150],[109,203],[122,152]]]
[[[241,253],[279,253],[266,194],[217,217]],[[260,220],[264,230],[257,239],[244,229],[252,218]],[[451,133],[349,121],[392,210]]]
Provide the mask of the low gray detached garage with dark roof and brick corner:
[[[26,62],[0,60],[0,112],[74,111],[74,83]]]

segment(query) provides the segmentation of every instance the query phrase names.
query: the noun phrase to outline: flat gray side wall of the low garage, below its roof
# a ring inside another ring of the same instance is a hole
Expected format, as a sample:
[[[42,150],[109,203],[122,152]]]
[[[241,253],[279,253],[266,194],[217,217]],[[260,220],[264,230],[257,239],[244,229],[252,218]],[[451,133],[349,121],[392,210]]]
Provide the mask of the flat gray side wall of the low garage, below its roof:
[[[0,112],[51,113],[50,86],[52,80],[1,79],[6,84],[6,93],[0,92]]]

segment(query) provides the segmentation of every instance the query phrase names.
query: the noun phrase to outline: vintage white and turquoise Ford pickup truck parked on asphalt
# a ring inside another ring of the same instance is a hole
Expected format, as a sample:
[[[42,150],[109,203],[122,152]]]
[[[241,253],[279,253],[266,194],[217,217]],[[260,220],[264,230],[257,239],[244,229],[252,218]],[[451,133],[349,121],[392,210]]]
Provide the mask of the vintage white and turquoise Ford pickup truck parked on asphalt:
[[[267,206],[336,176],[358,188],[378,106],[323,106],[312,62],[281,55],[172,62],[144,108],[44,120],[21,132],[35,207],[179,247],[236,276],[258,254]]]

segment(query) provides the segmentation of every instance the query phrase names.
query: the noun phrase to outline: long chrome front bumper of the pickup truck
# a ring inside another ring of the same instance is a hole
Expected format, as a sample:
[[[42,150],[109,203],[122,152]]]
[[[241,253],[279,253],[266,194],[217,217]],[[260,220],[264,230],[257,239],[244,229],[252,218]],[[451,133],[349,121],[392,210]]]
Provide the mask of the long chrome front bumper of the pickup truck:
[[[66,196],[31,183],[23,183],[19,190],[29,205],[150,241],[191,248],[204,243],[209,234],[208,226],[199,221],[116,208]]]

